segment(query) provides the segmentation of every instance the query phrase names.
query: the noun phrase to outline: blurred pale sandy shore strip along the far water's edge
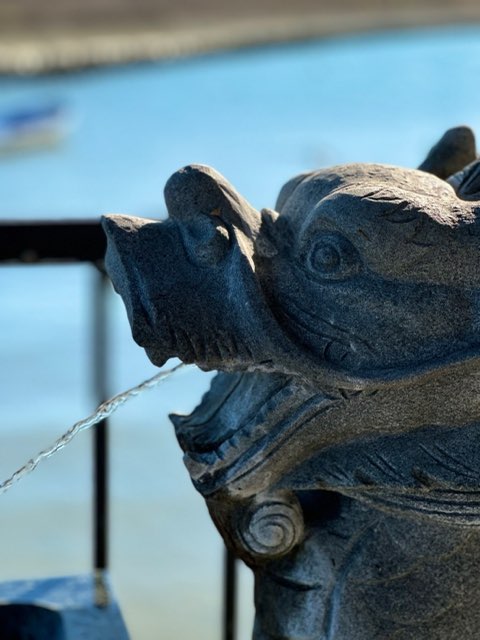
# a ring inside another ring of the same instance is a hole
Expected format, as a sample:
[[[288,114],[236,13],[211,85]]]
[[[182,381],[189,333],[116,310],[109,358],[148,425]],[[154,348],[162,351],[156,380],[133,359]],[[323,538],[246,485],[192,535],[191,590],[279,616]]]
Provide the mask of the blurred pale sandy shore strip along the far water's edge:
[[[0,34],[0,74],[36,75],[171,60],[262,45],[381,30],[480,24],[477,7],[313,11],[214,20],[195,26],[137,24]]]

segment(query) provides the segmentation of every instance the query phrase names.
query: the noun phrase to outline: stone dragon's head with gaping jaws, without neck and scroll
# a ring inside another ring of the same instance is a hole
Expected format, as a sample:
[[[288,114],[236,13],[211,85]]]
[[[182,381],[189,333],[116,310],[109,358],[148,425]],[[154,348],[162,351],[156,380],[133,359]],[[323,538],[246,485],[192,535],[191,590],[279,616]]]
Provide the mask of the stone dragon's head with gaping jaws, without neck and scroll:
[[[480,164],[429,173],[451,139],[423,170],[297,176],[275,210],[188,166],[165,221],[104,219],[135,340],[157,365],[220,371],[172,417],[203,495],[248,498],[329,447],[477,415],[455,380],[480,364]]]

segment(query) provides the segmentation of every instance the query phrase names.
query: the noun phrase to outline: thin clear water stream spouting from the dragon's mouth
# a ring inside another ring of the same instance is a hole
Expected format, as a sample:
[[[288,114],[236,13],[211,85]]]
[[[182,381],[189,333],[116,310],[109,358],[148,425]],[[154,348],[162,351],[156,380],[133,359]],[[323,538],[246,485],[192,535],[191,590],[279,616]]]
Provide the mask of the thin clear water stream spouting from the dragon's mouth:
[[[98,409],[92,413],[91,415],[83,418],[83,420],[79,420],[73,426],[70,427],[65,433],[63,433],[55,442],[53,442],[46,449],[42,449],[37,455],[33,458],[30,458],[28,462],[26,462],[23,466],[17,469],[11,476],[9,476],[6,480],[0,483],[0,494],[5,493],[14,484],[28,476],[32,471],[34,471],[42,460],[46,460],[50,458],[55,453],[66,447],[79,433],[82,431],[86,431],[91,427],[95,426],[105,418],[108,418],[114,413],[119,407],[121,407],[125,402],[130,400],[131,398],[138,396],[140,393],[143,393],[147,389],[152,389],[156,387],[161,382],[170,378],[176,371],[182,369],[185,365],[183,363],[177,364],[175,367],[171,369],[167,369],[166,371],[160,371],[156,375],[152,376],[148,380],[144,380],[140,384],[135,387],[131,387],[122,393],[113,396],[110,400],[106,400],[102,402],[102,404],[98,407]]]

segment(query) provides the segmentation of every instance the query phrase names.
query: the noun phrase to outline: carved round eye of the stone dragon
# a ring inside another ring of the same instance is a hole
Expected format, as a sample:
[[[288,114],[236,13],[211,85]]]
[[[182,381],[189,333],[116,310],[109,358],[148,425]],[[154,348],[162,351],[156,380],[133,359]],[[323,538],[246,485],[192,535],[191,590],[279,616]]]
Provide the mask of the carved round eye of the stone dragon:
[[[355,247],[336,233],[317,237],[307,251],[306,263],[312,274],[327,280],[347,278],[360,266]]]

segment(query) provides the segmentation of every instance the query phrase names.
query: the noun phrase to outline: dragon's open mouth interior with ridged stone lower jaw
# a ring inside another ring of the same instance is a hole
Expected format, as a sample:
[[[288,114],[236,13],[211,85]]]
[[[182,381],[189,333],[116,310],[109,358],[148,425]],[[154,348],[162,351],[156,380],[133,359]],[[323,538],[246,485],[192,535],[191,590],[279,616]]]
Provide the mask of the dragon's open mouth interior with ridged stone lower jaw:
[[[219,373],[190,415],[170,417],[192,479],[210,494],[253,471],[257,455],[285,443],[331,404],[330,396],[291,376]]]

